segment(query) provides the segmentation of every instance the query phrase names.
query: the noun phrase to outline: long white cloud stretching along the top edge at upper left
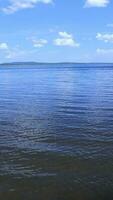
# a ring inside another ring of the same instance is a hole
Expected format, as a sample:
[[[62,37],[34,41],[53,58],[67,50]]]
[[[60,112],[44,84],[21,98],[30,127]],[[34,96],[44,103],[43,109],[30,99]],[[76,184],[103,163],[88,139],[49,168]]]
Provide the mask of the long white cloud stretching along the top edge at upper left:
[[[49,4],[52,0],[9,0],[9,6],[2,8],[6,14],[12,14],[19,10],[34,8],[37,3]]]

